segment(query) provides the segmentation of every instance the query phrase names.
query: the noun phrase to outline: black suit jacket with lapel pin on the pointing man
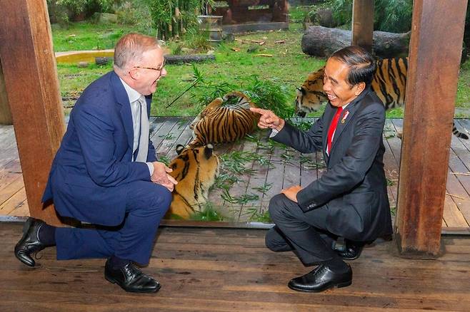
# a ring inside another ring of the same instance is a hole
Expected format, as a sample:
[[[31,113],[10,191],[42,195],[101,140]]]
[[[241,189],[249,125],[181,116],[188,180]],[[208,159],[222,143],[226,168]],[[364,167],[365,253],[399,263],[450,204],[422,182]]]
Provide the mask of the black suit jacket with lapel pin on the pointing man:
[[[367,241],[391,234],[383,162],[384,105],[366,88],[341,114],[326,155],[326,135],[335,112],[329,103],[309,131],[286,123],[273,137],[300,152],[323,151],[327,170],[297,194],[299,206],[307,212],[326,205],[326,229],[347,239]]]

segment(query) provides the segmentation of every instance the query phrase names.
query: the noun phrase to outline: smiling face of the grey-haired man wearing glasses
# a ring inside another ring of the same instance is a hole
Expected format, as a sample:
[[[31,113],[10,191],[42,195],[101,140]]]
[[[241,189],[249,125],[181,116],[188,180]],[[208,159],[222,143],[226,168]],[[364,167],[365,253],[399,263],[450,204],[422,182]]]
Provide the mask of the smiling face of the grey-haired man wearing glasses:
[[[156,91],[158,81],[166,76],[164,56],[161,48],[154,48],[142,53],[140,61],[134,62],[129,70],[131,88],[142,95],[150,95]]]

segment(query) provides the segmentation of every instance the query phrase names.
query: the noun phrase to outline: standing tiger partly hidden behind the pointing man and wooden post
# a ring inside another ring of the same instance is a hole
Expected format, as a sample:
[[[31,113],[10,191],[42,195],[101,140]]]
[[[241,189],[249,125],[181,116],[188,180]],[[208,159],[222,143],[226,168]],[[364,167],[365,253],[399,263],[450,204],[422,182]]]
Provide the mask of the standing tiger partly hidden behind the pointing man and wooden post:
[[[296,89],[296,115],[305,117],[307,113],[319,110],[328,98],[323,91],[324,67],[307,76],[304,84]],[[386,110],[399,108],[405,103],[406,75],[408,58],[384,58],[376,61],[376,71],[371,89],[385,105]],[[452,133],[456,137],[468,140],[469,136],[457,130],[453,124]]]

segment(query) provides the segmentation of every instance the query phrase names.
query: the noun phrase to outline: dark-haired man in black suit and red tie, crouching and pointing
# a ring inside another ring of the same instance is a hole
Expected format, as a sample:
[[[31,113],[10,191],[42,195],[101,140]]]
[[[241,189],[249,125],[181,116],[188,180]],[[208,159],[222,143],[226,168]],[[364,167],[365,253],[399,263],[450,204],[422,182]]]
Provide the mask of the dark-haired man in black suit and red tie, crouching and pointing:
[[[351,266],[366,241],[391,234],[391,215],[384,173],[384,105],[371,91],[375,62],[363,48],[349,46],[326,62],[324,114],[301,131],[270,110],[260,113],[259,128],[271,128],[271,138],[309,153],[321,150],[327,170],[306,187],[283,189],[269,202],[276,224],[266,234],[273,251],[293,250],[313,271],[289,281],[296,291],[324,291],[349,286]],[[334,249],[338,236],[345,249]]]

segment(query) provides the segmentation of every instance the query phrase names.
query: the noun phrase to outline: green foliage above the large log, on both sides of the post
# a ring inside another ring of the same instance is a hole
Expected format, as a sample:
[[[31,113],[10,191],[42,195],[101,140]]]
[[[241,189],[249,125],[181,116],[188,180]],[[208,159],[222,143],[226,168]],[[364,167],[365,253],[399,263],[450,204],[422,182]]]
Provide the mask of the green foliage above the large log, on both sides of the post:
[[[333,19],[351,25],[353,0],[331,0]],[[374,30],[404,33],[411,28],[413,0],[374,0]]]

